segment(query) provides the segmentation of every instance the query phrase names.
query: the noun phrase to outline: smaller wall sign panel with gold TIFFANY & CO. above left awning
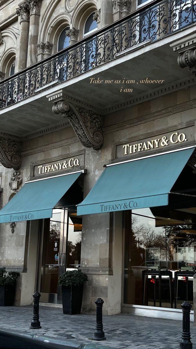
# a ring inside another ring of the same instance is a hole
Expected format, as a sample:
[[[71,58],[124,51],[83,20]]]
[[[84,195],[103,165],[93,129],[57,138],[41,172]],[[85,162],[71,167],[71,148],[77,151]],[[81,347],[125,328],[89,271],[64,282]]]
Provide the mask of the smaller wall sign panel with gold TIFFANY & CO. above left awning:
[[[31,164],[30,179],[52,177],[84,169],[84,150]]]

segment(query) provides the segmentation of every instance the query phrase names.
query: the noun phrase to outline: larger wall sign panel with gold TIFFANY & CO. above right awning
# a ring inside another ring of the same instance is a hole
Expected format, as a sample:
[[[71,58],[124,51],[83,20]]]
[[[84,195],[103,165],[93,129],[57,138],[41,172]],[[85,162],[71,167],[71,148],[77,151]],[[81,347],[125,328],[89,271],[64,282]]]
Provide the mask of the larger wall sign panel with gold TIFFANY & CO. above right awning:
[[[159,132],[149,132],[149,136],[144,138],[133,137],[122,142],[113,144],[113,160],[125,159],[131,157],[140,157],[158,153],[160,151],[168,151],[179,147],[187,147],[195,144],[195,123],[192,122],[178,129],[176,127],[172,131],[159,134]]]

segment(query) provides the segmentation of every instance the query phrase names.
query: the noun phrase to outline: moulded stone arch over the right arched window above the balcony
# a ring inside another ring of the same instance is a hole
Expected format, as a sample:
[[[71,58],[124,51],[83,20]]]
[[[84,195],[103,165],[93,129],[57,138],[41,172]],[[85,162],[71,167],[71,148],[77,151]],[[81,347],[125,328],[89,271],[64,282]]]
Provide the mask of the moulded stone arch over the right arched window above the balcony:
[[[83,0],[78,5],[71,17],[71,25],[75,29],[79,29],[78,40],[83,38],[84,25],[91,13],[96,12],[99,8],[99,3],[96,0]]]

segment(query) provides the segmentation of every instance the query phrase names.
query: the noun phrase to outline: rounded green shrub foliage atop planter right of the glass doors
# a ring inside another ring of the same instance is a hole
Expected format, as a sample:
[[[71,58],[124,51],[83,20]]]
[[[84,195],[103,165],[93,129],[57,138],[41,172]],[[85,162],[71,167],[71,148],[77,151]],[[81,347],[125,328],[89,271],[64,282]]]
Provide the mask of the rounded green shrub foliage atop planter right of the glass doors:
[[[80,269],[67,270],[59,276],[59,286],[78,286],[85,284],[86,281],[88,281],[88,276]]]

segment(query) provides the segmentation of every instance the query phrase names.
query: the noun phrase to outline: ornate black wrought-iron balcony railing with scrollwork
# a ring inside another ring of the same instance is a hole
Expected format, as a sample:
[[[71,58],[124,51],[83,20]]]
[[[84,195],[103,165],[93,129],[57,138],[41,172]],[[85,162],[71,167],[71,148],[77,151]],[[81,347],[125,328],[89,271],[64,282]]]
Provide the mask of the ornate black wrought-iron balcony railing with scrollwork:
[[[0,84],[0,109],[116,59],[138,44],[196,22],[196,0],[154,1]]]

